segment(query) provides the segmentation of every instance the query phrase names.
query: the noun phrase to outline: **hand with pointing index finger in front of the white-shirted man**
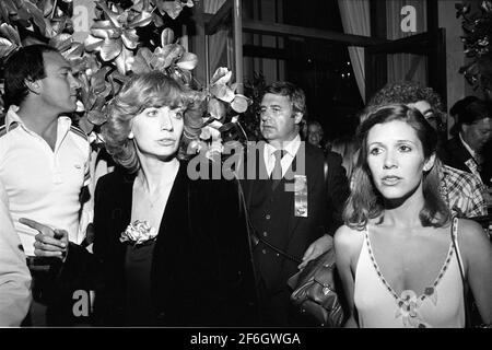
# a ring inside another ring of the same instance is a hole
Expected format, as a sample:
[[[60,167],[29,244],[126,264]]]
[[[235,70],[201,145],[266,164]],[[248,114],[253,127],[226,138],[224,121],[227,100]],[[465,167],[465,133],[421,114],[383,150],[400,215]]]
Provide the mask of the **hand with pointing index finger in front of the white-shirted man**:
[[[19,219],[19,222],[39,232],[35,236],[36,241],[34,242],[34,254],[36,256],[65,259],[69,243],[67,231],[51,229],[48,225],[26,218]]]

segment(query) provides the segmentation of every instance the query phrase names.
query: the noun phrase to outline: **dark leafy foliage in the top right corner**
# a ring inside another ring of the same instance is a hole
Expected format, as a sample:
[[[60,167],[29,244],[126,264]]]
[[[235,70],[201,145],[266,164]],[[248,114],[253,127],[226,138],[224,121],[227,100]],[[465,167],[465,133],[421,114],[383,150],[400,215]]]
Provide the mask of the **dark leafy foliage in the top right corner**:
[[[465,55],[471,58],[470,63],[461,67],[459,72],[475,89],[481,88],[487,96],[492,79],[492,1],[482,1],[479,12],[473,13],[470,4],[456,3],[455,8],[456,18],[461,18],[465,32],[461,36]]]

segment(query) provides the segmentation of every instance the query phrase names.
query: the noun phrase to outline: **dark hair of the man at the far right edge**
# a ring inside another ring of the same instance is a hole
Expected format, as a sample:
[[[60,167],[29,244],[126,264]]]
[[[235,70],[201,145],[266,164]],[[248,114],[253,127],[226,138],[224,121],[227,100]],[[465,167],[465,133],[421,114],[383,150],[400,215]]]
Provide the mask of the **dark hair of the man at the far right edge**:
[[[492,104],[475,96],[467,96],[456,102],[449,113],[457,116],[458,125],[471,125],[484,118],[492,118]]]

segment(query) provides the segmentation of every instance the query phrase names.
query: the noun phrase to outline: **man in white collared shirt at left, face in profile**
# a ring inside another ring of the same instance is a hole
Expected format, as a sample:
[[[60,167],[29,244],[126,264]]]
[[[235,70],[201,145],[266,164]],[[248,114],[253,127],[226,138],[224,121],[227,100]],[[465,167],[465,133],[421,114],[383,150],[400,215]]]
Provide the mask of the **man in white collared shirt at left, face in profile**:
[[[21,218],[66,230],[74,243],[84,238],[79,212],[80,194],[90,183],[90,145],[65,115],[75,110],[79,88],[70,63],[50,46],[21,47],[5,62],[9,110],[0,127],[0,184],[34,277],[33,326],[66,324],[72,316],[60,313],[66,301],[52,290],[46,269],[36,266],[46,261],[34,259],[38,232],[22,224]]]

